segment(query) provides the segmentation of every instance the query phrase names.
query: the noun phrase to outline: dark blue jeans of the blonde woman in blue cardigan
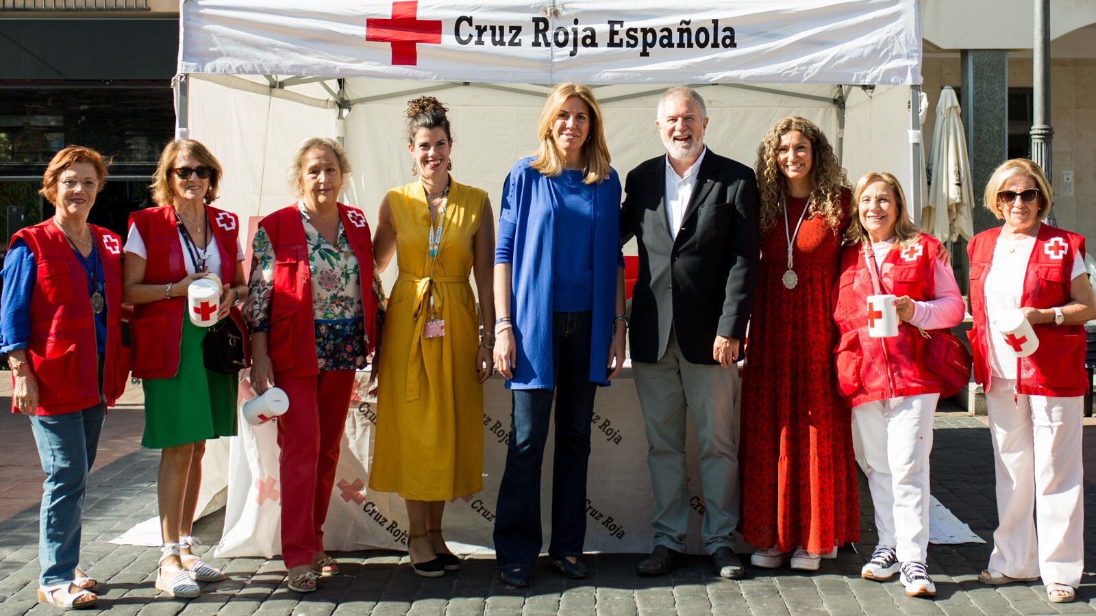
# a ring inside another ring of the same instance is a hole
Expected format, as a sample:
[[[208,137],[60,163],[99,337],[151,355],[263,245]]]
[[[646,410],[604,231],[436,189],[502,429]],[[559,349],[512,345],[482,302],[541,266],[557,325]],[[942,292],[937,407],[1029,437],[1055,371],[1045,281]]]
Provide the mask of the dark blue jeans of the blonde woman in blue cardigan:
[[[494,550],[500,569],[532,569],[540,554],[540,467],[552,393],[556,457],[552,465],[551,541],[548,556],[582,554],[586,538],[586,463],[597,385],[590,380],[590,312],[552,313],[556,389],[513,390],[506,470],[499,487]]]

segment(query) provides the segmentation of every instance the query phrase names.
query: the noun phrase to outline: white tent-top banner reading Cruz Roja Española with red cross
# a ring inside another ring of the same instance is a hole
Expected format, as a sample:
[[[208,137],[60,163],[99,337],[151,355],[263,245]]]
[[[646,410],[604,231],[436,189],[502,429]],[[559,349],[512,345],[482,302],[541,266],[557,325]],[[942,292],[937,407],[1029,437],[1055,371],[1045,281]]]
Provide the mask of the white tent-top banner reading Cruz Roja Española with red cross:
[[[921,83],[917,0],[190,0],[180,73]],[[870,61],[865,61],[870,58]]]

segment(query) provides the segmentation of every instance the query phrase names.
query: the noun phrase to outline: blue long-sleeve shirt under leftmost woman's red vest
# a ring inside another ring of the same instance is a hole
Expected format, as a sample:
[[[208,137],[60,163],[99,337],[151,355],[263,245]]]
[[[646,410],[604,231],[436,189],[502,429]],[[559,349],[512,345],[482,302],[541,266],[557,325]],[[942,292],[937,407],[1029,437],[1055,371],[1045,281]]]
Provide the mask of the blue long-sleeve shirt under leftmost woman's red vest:
[[[77,259],[81,259],[76,253]],[[103,292],[103,262],[99,251],[94,253],[95,281],[99,292]],[[31,338],[31,294],[38,280],[38,267],[34,253],[26,242],[16,239],[3,261],[3,294],[0,295],[0,353],[26,349]],[[88,281],[88,295],[94,293]],[[106,310],[95,315],[95,343],[99,352],[106,351]]]

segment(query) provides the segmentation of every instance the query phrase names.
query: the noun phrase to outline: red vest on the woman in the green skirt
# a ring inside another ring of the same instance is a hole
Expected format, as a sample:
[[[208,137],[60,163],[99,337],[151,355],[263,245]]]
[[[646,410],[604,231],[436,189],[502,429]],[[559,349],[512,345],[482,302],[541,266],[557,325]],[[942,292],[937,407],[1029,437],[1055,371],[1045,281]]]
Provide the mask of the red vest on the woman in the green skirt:
[[[240,232],[239,218],[231,212],[205,206],[206,218],[213,235],[217,238],[220,252],[221,282],[236,285],[237,236]],[[129,224],[137,227],[145,241],[145,284],[167,285],[186,277],[186,261],[179,228],[175,226],[174,208],[171,206],[139,209],[129,215]],[[129,321],[133,335],[134,366],[137,378],[172,378],[179,372],[179,349],[183,339],[183,316],[186,297],[160,299],[150,304],[134,306],[134,317]],[[237,307],[228,313],[241,332],[244,332],[244,355],[250,357],[251,341],[247,335],[243,317]]]

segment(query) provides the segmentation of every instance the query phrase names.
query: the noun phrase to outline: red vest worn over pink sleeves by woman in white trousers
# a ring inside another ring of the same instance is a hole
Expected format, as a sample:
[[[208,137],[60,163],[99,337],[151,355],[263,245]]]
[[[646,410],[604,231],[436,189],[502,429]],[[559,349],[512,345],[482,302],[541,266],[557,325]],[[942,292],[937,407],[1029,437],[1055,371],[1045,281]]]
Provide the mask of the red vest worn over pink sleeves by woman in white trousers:
[[[890,273],[883,278],[881,293],[909,295],[917,301],[933,299],[939,246],[935,238],[923,235],[912,246],[891,248],[879,264],[881,273]],[[836,292],[833,318],[841,331],[834,351],[837,386],[852,406],[901,396],[944,393],[944,381],[925,365],[926,339],[917,328],[903,321],[897,336],[868,335],[868,296],[876,292],[861,246],[842,249]]]

